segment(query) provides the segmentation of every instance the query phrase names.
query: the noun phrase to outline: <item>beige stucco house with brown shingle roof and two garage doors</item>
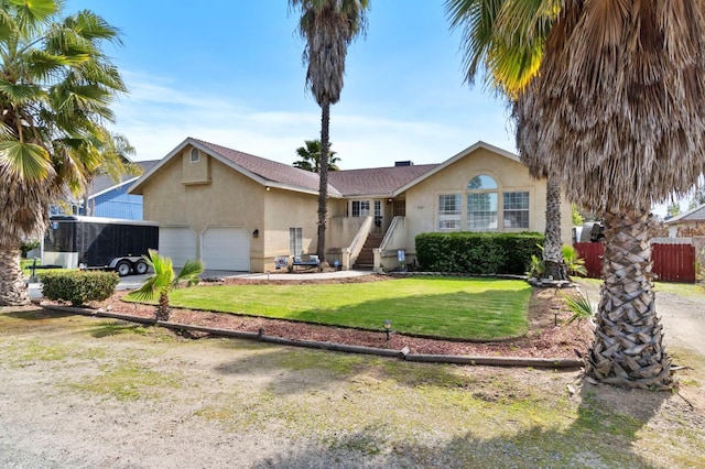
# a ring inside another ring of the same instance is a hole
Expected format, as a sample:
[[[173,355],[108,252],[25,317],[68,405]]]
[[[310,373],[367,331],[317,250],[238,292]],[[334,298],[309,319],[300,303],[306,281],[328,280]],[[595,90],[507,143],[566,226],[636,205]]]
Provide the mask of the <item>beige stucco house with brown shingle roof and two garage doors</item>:
[[[208,270],[268,272],[278,257],[315,253],[315,173],[188,138],[129,193],[143,196],[175,266],[200,259]],[[440,164],[330,172],[326,261],[392,269],[400,250],[414,262],[422,232],[543,232],[545,194],[517,155],[485,142]],[[566,201],[561,217],[570,243]]]

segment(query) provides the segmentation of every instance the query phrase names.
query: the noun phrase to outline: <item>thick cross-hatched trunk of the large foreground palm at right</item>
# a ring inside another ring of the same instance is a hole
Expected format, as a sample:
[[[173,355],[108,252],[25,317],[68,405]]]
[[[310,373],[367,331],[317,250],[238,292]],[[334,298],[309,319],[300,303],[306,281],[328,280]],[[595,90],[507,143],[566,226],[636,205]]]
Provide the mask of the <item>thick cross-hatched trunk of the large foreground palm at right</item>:
[[[586,373],[622,388],[672,386],[651,283],[649,210],[605,215],[605,257],[597,325]]]

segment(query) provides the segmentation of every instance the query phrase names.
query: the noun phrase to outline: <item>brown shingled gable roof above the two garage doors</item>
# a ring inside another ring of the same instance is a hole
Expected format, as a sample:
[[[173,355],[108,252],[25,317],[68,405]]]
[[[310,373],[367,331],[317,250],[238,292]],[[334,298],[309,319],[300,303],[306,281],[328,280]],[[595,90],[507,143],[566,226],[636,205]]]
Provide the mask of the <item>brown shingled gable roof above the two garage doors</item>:
[[[237,150],[204,142],[198,139],[187,138],[178,146],[172,150],[156,166],[143,174],[128,190],[138,193],[144,182],[152,174],[156,173],[172,157],[178,155],[187,145],[193,145],[202,152],[213,156],[220,163],[237,171],[238,173],[253,179],[254,182],[269,187],[276,187],[286,190],[294,190],[305,194],[318,194],[318,175],[308,171],[300,170],[275,161],[254,156]],[[340,193],[328,184],[328,196],[340,197]]]

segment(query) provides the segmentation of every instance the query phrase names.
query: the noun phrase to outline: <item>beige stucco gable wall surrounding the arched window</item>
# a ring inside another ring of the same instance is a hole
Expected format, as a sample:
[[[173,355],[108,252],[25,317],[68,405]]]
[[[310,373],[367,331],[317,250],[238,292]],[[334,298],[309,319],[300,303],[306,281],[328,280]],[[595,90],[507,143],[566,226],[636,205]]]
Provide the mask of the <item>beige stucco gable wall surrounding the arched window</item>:
[[[486,149],[478,149],[406,192],[406,246],[415,252],[414,237],[423,232],[442,231],[438,227],[438,196],[462,195],[462,210],[466,210],[466,187],[470,179],[480,174],[491,176],[498,184],[498,206],[501,217],[502,193],[529,192],[529,228],[502,229],[499,232],[545,231],[546,186],[545,181],[532,179],[527,167]],[[463,214],[465,221],[466,214]],[[571,206],[565,200],[561,209],[561,231],[563,242],[571,243]]]

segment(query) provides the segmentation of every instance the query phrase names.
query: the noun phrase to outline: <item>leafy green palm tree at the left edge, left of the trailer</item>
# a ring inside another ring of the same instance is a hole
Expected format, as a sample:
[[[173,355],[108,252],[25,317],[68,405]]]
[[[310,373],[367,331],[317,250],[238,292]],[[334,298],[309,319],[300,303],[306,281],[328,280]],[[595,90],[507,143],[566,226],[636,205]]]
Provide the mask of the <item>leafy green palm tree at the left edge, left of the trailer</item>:
[[[118,31],[88,10],[61,19],[62,6],[0,0],[0,305],[29,303],[20,240],[40,237],[51,201],[100,166],[91,140],[126,91],[100,50]]]

